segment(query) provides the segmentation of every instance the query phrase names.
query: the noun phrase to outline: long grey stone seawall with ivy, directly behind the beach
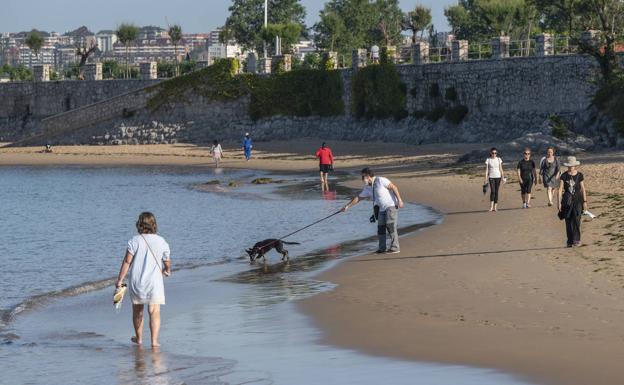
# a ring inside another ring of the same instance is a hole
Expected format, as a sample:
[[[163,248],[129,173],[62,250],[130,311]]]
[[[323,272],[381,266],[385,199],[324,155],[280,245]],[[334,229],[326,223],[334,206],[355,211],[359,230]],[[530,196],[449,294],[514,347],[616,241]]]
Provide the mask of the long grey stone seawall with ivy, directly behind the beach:
[[[247,113],[248,97],[217,102],[197,95],[190,103],[152,111],[145,104],[155,91],[147,88],[42,119],[34,130],[37,135],[21,144],[208,143],[239,140],[247,131],[257,140],[322,137],[413,144],[498,142],[529,132],[549,134],[545,121],[551,114],[566,117],[579,133],[610,140],[610,133],[598,132],[595,125],[587,123],[597,74],[590,57],[508,58],[400,65],[397,69],[408,89],[410,112],[410,117],[401,121],[353,117],[349,113],[353,71],[341,70],[345,114],[338,117],[276,116],[253,121]],[[446,96],[450,89],[453,98]],[[458,105],[468,108],[459,124],[414,116],[416,111]]]

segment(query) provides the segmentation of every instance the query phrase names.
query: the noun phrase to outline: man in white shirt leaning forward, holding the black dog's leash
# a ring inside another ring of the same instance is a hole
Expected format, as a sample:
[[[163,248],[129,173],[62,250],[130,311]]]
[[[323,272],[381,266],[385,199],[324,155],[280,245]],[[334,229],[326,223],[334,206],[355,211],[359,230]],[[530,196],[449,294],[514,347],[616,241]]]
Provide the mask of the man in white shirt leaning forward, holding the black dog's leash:
[[[375,176],[368,167],[362,170],[364,189],[349,202],[342,211],[347,211],[360,200],[373,200],[374,219],[377,220],[377,236],[379,248],[377,253],[397,254],[399,248],[399,234],[397,232],[398,210],[403,207],[403,200],[399,188],[387,178]],[[371,221],[374,222],[373,217]],[[390,248],[386,248],[386,233],[390,234]]]

